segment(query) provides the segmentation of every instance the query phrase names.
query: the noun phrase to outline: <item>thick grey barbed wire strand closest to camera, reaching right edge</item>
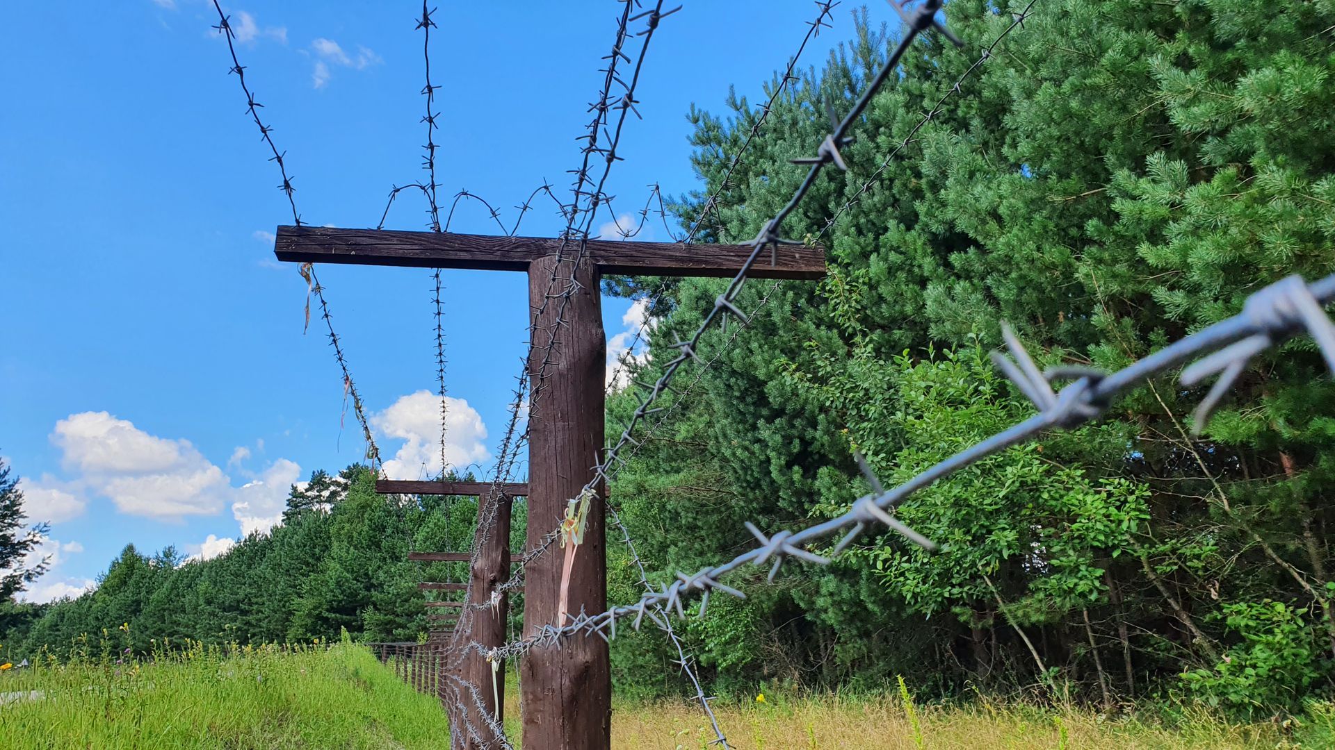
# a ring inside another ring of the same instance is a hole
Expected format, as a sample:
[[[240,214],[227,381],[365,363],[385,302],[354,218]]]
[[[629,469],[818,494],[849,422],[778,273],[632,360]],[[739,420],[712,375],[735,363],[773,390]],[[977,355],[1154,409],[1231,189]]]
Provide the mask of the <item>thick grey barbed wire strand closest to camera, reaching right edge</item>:
[[[1335,300],[1335,275],[1311,284],[1300,276],[1288,276],[1248,296],[1238,315],[1173,342],[1115,372],[1103,372],[1084,366],[1057,366],[1047,371],[1039,370],[1011,328],[1004,326],[1003,336],[1009,356],[993,352],[992,359],[1016,388],[1039,408],[1039,412],[1029,419],[928,467],[892,490],[885,490],[881,486],[880,479],[858,455],[858,464],[872,487],[872,492],[854,500],[849,511],[796,532],[785,530],[765,534],[753,523],[746,522],[748,531],[760,542],[758,547],[725,563],[701,569],[693,575],[678,573],[676,582],[662,591],[646,593],[633,605],[613,607],[595,615],[579,613],[566,626],[545,626],[535,635],[511,642],[498,649],[497,653],[505,657],[523,654],[533,647],[555,645],[562,637],[575,633],[597,634],[602,638],[609,638],[607,634],[615,637],[617,619],[634,615],[634,627],[638,629],[646,617],[655,623],[658,622],[654,610],[676,610],[678,617],[685,617],[682,599],[696,591],[701,594],[700,613],[702,615],[713,591],[745,598],[744,593],[720,582],[724,575],[748,565],[757,565],[769,566],[769,579],[773,581],[780,566],[789,558],[828,565],[868,527],[878,524],[902,534],[928,551],[941,551],[934,543],[897,520],[889,511],[933,482],[1028,442],[1043,432],[1084,426],[1101,416],[1115,396],[1156,375],[1183,366],[1187,366],[1179,375],[1183,387],[1193,387],[1210,376],[1218,376],[1210,392],[1195,410],[1193,420],[1197,430],[1208,422],[1224,394],[1256,355],[1299,332],[1311,335],[1327,367],[1335,374],[1335,323],[1324,311],[1324,306],[1332,300]],[[1071,383],[1055,392],[1052,384],[1064,380]],[[842,534],[842,536],[829,551],[821,550],[820,554],[810,551],[809,547],[816,542],[836,534]]]

